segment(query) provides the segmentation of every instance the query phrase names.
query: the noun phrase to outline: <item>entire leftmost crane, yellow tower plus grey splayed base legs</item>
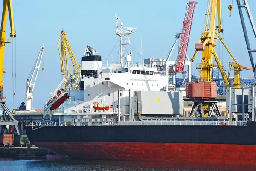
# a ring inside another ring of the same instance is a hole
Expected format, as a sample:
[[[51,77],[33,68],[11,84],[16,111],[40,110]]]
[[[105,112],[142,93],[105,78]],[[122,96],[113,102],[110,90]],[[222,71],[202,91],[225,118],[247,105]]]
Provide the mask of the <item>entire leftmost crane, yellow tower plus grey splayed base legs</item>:
[[[18,121],[14,119],[12,116],[12,113],[8,109],[8,107],[5,104],[5,101],[2,101],[4,99],[3,96],[3,73],[5,73],[5,70],[3,68],[3,62],[4,62],[4,50],[5,50],[5,43],[11,43],[10,38],[6,38],[6,25],[7,25],[7,11],[9,13],[9,20],[10,20],[10,27],[11,27],[11,33],[10,37],[16,37],[16,30],[14,29],[14,22],[13,22],[13,12],[12,12],[12,0],[3,0],[3,13],[2,13],[2,21],[1,21],[1,29],[0,29],[0,112],[3,113],[3,116],[0,116],[0,125],[1,130],[0,133],[3,133],[6,130],[6,125],[14,125],[17,134],[19,135],[19,129],[18,129]],[[6,114],[9,115],[10,119],[6,117]],[[3,120],[4,122],[1,122]],[[15,132],[13,130],[13,132]],[[12,133],[13,133],[12,132]]]

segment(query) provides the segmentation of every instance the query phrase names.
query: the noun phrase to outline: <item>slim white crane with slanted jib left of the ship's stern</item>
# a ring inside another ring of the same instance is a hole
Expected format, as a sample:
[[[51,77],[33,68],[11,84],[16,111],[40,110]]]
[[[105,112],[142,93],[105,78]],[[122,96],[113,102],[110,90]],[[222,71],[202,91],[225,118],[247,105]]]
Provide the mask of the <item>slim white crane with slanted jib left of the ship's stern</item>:
[[[31,107],[32,107],[32,102],[33,102],[32,92],[35,87],[35,81],[38,75],[43,53],[44,53],[44,45],[41,46],[38,57],[35,61],[35,64],[29,74],[28,79],[26,80],[26,110],[31,110]]]

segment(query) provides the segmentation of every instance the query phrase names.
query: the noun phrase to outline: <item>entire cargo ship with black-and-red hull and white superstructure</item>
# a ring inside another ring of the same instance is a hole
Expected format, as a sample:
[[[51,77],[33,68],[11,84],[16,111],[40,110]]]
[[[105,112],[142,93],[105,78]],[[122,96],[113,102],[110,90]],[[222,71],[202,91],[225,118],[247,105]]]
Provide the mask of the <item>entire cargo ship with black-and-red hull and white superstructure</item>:
[[[132,63],[132,51],[123,55],[130,44],[124,37],[136,28],[122,25],[116,16],[120,64],[103,65],[87,46],[80,89],[64,91],[61,109],[47,101],[45,112],[58,121],[26,122],[30,142],[73,159],[256,165],[256,122],[215,111],[210,118],[183,117],[183,93],[165,91],[166,69]]]

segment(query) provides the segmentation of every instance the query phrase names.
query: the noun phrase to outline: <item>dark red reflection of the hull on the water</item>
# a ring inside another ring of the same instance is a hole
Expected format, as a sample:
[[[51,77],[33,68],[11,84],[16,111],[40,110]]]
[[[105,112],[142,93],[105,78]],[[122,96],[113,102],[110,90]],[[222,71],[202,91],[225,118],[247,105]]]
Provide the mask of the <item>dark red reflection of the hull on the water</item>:
[[[47,162],[61,163],[63,165],[84,165],[84,166],[101,166],[104,168],[117,167],[119,169],[131,169],[132,171],[142,171],[148,168],[154,168],[154,171],[165,171],[171,169],[171,171],[206,171],[206,170],[218,170],[218,171],[255,171],[256,165],[227,165],[227,164],[203,164],[203,163],[171,163],[171,162],[134,162],[134,161],[84,161],[84,160],[68,160],[68,161],[34,161],[34,163],[44,164]],[[136,169],[138,168],[138,169]],[[180,170],[181,169],[181,170]],[[203,169],[203,170],[202,170]],[[121,171],[121,170],[120,170]]]

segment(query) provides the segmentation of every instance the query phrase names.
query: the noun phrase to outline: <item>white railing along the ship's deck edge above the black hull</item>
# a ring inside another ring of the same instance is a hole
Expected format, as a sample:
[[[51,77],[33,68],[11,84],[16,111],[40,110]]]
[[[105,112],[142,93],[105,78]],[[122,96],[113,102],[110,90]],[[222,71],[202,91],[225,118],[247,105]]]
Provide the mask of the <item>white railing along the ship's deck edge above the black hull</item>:
[[[103,122],[109,122],[109,118],[104,119]],[[85,121],[85,120],[84,120]],[[81,121],[80,121],[81,122]],[[72,126],[90,126],[91,124],[76,123]],[[90,122],[87,120],[86,122]],[[26,126],[69,126],[66,125],[67,122],[26,122]],[[246,121],[120,121],[111,122],[108,125],[115,126],[133,126],[133,125],[211,125],[211,126],[244,126]],[[101,124],[97,124],[101,126]],[[96,126],[96,125],[95,125]]]

